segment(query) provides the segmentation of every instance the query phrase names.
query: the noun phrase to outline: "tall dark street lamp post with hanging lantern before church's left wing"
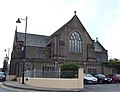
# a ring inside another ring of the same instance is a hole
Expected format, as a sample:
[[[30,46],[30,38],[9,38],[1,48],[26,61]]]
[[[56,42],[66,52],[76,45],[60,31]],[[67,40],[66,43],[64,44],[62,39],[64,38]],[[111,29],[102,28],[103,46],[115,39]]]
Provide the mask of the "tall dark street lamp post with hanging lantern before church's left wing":
[[[25,70],[25,62],[26,62],[26,33],[27,33],[27,16],[25,19],[18,18],[16,23],[21,23],[20,20],[25,20],[25,38],[24,38],[24,60],[23,60],[23,71],[22,71],[22,84],[24,84],[24,70]]]

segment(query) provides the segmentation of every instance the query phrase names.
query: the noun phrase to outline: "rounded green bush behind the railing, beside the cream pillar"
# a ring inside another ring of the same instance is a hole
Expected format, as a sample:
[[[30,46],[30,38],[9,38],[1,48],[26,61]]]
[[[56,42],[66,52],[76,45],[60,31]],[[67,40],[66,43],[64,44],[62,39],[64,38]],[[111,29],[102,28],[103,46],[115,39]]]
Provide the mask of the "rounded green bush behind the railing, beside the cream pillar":
[[[65,63],[60,66],[62,78],[75,78],[78,76],[79,65],[73,63]]]

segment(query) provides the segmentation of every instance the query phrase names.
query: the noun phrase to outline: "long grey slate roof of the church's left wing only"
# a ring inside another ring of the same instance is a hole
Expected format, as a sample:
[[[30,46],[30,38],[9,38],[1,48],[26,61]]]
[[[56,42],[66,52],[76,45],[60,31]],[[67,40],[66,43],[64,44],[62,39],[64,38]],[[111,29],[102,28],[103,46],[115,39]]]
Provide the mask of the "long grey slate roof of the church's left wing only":
[[[17,32],[17,41],[24,41],[24,40],[25,40],[25,33]],[[27,46],[46,47],[49,41],[50,41],[49,36],[26,33]]]

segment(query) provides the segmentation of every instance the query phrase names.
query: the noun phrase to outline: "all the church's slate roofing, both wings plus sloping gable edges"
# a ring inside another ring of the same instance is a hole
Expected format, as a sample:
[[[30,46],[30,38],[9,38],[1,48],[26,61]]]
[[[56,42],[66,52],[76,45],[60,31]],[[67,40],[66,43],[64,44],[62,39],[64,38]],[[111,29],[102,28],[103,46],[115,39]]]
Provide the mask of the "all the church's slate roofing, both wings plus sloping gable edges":
[[[81,21],[79,20],[79,18],[75,14],[70,21],[68,21],[60,29],[58,29],[56,32],[54,32],[51,36],[44,36],[44,35],[36,35],[36,34],[29,34],[29,33],[27,33],[26,34],[26,45],[27,46],[46,47],[51,42],[51,38],[54,37],[54,36],[56,36],[56,35],[59,35],[64,30],[64,28],[66,27],[66,25],[68,25],[75,18],[82,25]],[[83,25],[82,25],[82,27],[84,28]],[[85,31],[86,31],[86,29],[85,29]],[[16,34],[17,34],[17,36],[16,36],[17,37],[17,41],[24,41],[25,40],[25,33],[16,32]],[[88,34],[88,36],[90,37],[89,34]],[[94,42],[94,46],[95,46],[95,51],[99,51],[99,52],[100,51],[106,51],[105,48],[98,41]]]

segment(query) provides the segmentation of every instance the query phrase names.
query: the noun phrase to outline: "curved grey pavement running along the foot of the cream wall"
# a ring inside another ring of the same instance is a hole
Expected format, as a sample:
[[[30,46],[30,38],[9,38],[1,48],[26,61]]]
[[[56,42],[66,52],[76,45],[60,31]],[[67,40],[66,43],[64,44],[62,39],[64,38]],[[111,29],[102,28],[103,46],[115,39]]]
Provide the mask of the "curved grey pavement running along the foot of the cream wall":
[[[24,90],[34,90],[34,91],[47,91],[47,92],[83,92],[82,89],[59,89],[59,88],[43,88],[43,87],[34,87],[27,84],[22,84],[18,81],[4,81],[4,86],[24,89]]]

